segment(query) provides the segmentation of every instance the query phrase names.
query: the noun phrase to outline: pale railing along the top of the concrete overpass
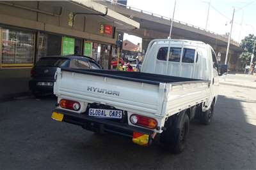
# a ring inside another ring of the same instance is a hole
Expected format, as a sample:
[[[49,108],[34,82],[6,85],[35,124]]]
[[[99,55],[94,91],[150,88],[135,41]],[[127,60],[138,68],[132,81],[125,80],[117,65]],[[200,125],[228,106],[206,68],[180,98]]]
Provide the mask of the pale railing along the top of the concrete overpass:
[[[106,1],[108,1],[109,3],[112,3],[111,0],[106,0]],[[154,17],[158,17],[158,18],[162,18],[162,19],[165,19],[165,20],[170,20],[170,21],[172,21],[172,18],[170,18],[170,17],[164,17],[163,15],[159,15],[159,14],[157,14],[157,13],[152,13],[152,12],[150,12],[150,11],[141,10],[141,9],[139,9],[139,8],[135,8],[135,7],[132,7],[132,6],[125,5],[125,4],[121,4],[121,3],[115,3],[115,4],[118,4],[119,6],[124,6],[124,8],[127,8],[127,9],[129,9],[129,10],[138,11],[138,12],[141,12],[141,13],[145,13],[145,14],[147,14],[147,15],[152,15],[152,16],[154,16]],[[223,37],[223,38],[225,38],[225,39],[228,39],[226,36],[223,36],[223,35],[218,34],[218,33],[216,33],[216,32],[209,31],[209,30],[207,30],[207,29],[204,29],[204,28],[202,28],[202,27],[198,27],[198,26],[193,25],[193,24],[188,24],[188,23],[182,22],[182,21],[180,21],[180,20],[173,20],[173,21],[174,21],[174,22],[177,22],[177,23],[179,23],[179,24],[188,25],[189,27],[193,27],[193,28],[195,28],[195,29],[200,29],[201,31],[205,31],[205,32],[208,32],[208,33],[210,33],[210,34],[214,34],[214,35],[216,35],[216,36],[221,36],[221,37]],[[231,40],[231,41],[232,41],[233,43],[236,43],[237,45],[239,45],[239,42],[234,41],[234,40]]]

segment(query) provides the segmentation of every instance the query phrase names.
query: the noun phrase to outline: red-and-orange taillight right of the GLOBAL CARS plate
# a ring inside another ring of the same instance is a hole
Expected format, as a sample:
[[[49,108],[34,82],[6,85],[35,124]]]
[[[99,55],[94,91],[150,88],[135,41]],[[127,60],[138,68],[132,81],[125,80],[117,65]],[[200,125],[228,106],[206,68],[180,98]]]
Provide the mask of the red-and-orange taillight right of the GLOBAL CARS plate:
[[[147,127],[150,129],[155,129],[157,126],[156,119],[150,117],[143,117],[135,114],[131,115],[130,121],[134,125],[140,125],[142,127]]]

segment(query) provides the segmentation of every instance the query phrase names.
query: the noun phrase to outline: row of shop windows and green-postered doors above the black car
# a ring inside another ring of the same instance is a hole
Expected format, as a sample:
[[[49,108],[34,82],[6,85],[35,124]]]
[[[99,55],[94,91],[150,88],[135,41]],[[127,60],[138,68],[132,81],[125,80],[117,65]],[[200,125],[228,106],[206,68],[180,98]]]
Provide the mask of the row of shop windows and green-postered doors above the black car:
[[[111,44],[15,27],[3,26],[0,31],[2,69],[31,68],[41,57],[57,55],[84,55],[95,59],[104,69],[109,68]]]

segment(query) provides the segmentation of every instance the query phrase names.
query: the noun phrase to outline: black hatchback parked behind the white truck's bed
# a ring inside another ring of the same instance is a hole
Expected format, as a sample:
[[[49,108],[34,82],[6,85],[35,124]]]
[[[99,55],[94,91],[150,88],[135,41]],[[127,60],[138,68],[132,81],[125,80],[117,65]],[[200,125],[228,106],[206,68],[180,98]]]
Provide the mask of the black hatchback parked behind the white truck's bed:
[[[90,57],[77,55],[42,57],[31,69],[29,90],[31,90],[35,96],[52,94],[54,74],[58,67],[100,69],[99,64]]]

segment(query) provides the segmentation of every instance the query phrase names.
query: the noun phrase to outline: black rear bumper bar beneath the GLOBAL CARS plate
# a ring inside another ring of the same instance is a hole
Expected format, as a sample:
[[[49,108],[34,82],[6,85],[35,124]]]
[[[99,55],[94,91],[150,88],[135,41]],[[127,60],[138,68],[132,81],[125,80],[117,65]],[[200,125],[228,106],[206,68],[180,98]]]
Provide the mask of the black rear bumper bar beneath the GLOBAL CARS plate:
[[[63,122],[70,124],[81,125],[88,131],[95,132],[111,132],[113,134],[120,134],[132,138],[133,132],[141,132],[143,134],[152,134],[154,131],[149,129],[143,129],[140,127],[134,127],[125,123],[113,122],[111,120],[103,118],[89,117],[81,113],[74,113],[72,111],[65,111],[60,109],[54,110],[57,113],[62,113]]]

